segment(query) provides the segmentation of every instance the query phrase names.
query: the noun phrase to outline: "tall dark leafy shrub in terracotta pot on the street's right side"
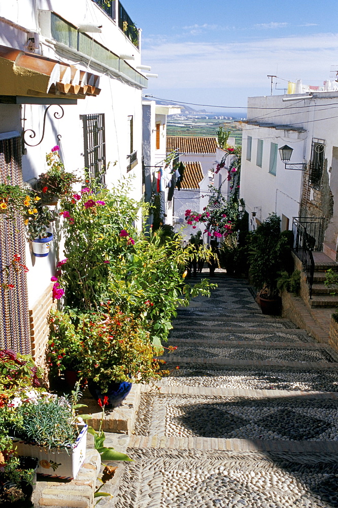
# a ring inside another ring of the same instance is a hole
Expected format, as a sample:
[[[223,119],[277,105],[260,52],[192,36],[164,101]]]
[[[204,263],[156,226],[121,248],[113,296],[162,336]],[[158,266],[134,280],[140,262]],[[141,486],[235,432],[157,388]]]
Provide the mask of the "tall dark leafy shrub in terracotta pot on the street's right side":
[[[292,232],[280,231],[280,218],[271,213],[253,232],[249,247],[249,275],[259,291],[263,314],[279,313],[278,280],[282,271],[291,272]]]

